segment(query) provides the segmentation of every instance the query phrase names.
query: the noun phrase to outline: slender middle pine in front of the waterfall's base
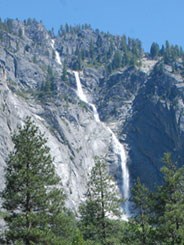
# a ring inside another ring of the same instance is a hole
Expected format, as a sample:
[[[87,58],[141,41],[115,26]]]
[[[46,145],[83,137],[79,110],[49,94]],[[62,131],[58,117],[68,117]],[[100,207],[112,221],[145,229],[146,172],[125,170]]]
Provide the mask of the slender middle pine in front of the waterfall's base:
[[[86,196],[86,201],[80,206],[80,224],[84,238],[106,244],[108,237],[112,235],[108,230],[109,216],[120,216],[122,199],[102,159],[95,160]]]

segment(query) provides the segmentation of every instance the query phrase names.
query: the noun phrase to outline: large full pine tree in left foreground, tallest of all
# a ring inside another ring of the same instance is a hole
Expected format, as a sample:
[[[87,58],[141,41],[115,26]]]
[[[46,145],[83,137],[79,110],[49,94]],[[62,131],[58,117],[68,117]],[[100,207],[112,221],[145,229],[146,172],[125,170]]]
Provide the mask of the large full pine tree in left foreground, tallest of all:
[[[7,244],[62,243],[65,195],[55,174],[46,139],[28,117],[12,137],[2,192]],[[59,188],[57,188],[59,187]]]

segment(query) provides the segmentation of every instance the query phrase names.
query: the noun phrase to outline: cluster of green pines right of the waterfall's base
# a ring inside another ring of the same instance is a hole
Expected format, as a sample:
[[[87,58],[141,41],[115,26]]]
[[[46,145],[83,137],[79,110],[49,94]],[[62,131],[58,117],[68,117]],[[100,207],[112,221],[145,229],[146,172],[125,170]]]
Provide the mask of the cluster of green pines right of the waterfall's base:
[[[164,154],[164,183],[153,193],[140,183],[133,188],[138,208],[127,227],[127,244],[184,244],[184,167]]]

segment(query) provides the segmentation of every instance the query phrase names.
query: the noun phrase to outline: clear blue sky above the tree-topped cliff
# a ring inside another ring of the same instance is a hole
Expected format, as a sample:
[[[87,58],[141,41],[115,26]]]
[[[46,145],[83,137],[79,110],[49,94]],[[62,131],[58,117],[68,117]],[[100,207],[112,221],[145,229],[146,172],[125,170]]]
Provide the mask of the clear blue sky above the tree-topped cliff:
[[[0,17],[35,18],[47,29],[65,23],[90,24],[115,35],[142,41],[145,51],[153,42],[168,40],[184,48],[184,0],[0,0]]]

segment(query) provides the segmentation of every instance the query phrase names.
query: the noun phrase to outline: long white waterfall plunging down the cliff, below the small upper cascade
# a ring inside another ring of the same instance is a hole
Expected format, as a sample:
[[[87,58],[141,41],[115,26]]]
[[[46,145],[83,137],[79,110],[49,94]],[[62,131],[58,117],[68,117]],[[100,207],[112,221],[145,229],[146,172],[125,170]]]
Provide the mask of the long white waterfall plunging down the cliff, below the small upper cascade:
[[[84,101],[85,103],[87,103],[89,106],[92,107],[95,121],[100,123],[106,130],[108,130],[110,132],[111,136],[112,136],[114,153],[116,155],[118,155],[118,157],[120,159],[120,162],[121,162],[122,181],[123,181],[123,184],[122,184],[123,198],[125,200],[127,200],[127,201],[125,201],[125,204],[124,204],[125,216],[123,216],[123,218],[125,220],[127,220],[128,216],[130,215],[129,202],[128,202],[130,192],[129,192],[129,171],[128,171],[128,168],[127,168],[127,165],[126,165],[126,163],[127,163],[127,155],[126,155],[125,148],[119,142],[119,140],[116,137],[116,135],[114,134],[114,132],[108,126],[106,126],[105,123],[100,121],[100,117],[99,117],[98,111],[96,109],[96,106],[94,104],[88,102],[88,99],[87,99],[87,97],[86,97],[86,95],[85,95],[85,93],[84,93],[84,91],[82,89],[79,73],[77,71],[74,71],[74,74],[75,74],[75,79],[76,79],[76,84],[77,84],[77,95],[78,95],[78,97],[82,101]]]

